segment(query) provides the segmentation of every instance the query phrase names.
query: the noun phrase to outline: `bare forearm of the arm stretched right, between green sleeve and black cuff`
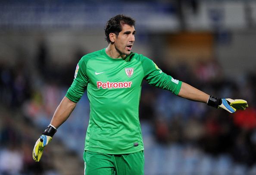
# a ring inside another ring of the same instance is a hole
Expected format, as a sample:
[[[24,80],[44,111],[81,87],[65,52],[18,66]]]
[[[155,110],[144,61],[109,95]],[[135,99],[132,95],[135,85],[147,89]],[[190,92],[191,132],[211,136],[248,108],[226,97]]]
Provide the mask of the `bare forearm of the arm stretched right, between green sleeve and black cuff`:
[[[193,101],[203,102],[203,103],[207,103],[209,99],[208,94],[184,82],[182,82],[181,84],[181,90],[178,96],[186,98],[188,100],[193,100]]]

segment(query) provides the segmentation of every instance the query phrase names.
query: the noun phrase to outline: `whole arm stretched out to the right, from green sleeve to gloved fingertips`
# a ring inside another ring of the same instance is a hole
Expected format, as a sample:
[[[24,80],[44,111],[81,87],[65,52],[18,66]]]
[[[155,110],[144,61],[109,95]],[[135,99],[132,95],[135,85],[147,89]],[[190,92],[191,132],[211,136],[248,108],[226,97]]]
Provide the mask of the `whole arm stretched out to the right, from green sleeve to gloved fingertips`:
[[[245,100],[221,99],[210,96],[187,83],[174,79],[165,74],[156,64],[147,57],[141,59],[142,67],[145,73],[146,81],[156,87],[166,89],[178,95],[197,102],[207,103],[208,106],[222,108],[228,112],[234,113],[237,109],[246,109],[248,107]]]

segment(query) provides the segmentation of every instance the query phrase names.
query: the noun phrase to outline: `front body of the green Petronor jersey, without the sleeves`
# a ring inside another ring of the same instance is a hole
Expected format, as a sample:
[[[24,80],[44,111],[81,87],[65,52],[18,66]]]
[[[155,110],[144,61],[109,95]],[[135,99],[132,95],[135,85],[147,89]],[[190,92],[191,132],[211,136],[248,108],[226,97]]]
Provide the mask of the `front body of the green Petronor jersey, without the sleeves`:
[[[91,108],[86,149],[109,154],[142,150],[138,106],[144,71],[140,61],[99,56],[86,67]]]

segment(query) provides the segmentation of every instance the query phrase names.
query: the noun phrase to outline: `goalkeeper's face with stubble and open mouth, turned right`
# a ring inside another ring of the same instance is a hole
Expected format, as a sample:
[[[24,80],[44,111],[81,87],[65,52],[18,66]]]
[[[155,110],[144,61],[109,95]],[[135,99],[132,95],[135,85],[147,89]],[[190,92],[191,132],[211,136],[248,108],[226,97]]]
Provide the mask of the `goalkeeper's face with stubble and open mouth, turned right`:
[[[132,45],[135,41],[135,28],[128,24],[122,25],[122,31],[116,36],[114,45],[120,55],[131,54]]]

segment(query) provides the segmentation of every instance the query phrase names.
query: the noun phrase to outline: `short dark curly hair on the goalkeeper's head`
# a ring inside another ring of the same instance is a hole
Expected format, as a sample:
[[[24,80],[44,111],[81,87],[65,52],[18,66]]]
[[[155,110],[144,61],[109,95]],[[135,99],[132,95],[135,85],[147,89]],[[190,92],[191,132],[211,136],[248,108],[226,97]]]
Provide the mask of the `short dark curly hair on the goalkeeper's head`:
[[[121,15],[116,15],[115,17],[110,18],[109,21],[107,21],[106,27],[104,28],[104,30],[106,35],[105,39],[108,43],[111,42],[109,39],[109,33],[115,33],[118,36],[119,32],[122,31],[123,24],[134,26],[135,20],[129,16],[125,16],[121,14]]]

